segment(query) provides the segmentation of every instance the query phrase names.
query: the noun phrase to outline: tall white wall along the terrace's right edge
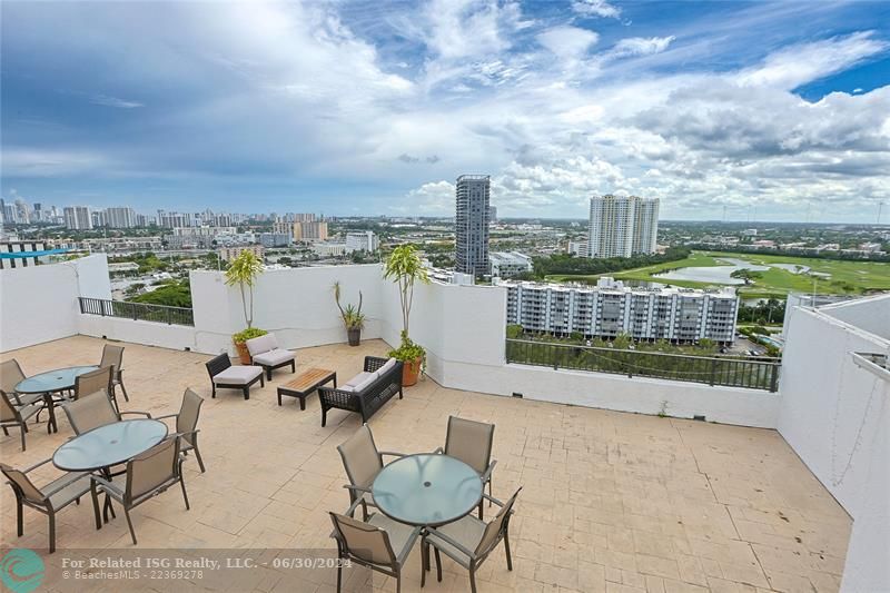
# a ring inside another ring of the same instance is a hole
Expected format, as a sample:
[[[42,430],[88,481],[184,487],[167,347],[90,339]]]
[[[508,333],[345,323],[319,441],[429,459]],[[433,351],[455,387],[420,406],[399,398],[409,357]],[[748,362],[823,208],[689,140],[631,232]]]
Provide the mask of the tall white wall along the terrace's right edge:
[[[852,355],[890,355],[878,335],[888,315],[890,295],[798,308],[779,387],[779,432],[853,518],[841,586],[851,593],[890,591],[890,380]]]

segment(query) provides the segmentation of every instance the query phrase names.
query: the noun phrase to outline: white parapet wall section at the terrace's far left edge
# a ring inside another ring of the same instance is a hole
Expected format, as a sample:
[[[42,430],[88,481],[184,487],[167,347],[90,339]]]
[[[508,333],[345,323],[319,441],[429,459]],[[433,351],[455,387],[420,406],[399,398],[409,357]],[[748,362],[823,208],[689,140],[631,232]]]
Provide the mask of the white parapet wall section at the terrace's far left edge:
[[[103,254],[0,270],[0,352],[78,334],[78,297],[111,298]]]

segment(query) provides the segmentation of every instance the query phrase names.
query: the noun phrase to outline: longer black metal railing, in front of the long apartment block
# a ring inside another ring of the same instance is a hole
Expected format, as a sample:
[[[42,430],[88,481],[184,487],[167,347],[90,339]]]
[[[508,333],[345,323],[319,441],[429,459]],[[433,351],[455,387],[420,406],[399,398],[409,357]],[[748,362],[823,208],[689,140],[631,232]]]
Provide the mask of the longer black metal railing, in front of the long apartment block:
[[[510,338],[506,340],[506,357],[507,363],[554,369],[592,370],[768,392],[779,388],[779,370],[782,366],[778,358],[769,357],[690,356]]]

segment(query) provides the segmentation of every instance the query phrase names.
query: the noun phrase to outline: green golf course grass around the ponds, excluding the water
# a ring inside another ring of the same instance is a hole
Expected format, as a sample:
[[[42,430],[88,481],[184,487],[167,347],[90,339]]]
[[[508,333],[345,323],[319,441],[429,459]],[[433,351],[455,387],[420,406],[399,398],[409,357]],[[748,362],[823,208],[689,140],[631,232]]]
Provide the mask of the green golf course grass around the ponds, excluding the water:
[[[656,266],[629,269],[603,276],[613,276],[617,279],[643,280],[671,286],[688,288],[704,288],[720,286],[719,284],[665,279],[655,274],[690,267],[713,267],[729,265],[720,259],[732,258],[749,261],[754,265],[774,266],[775,264],[801,266],[805,271],[795,274],[781,267],[770,267],[760,271],[750,285],[738,285],[739,294],[743,298],[783,298],[788,293],[812,293],[824,295],[863,294],[872,290],[890,290],[890,264],[882,261],[854,261],[840,259],[818,259],[805,257],[789,257],[769,254],[735,254],[693,251],[690,257],[680,261],[670,261]],[[817,273],[813,275],[812,273]],[[821,277],[818,274],[830,275]],[[555,281],[595,280],[597,276],[566,276],[555,275],[548,277]]]

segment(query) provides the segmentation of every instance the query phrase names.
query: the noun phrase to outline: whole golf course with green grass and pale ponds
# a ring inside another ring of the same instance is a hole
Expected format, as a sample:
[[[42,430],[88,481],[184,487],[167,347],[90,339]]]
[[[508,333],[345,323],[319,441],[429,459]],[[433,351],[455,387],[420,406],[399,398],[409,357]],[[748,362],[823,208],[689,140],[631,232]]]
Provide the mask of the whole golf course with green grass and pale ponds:
[[[744,269],[748,279],[732,274]],[[604,274],[622,280],[688,288],[734,286],[744,299],[784,298],[788,293],[823,295],[890,290],[890,264],[769,254],[693,251],[685,259]],[[553,275],[554,281],[592,281],[597,276]]]

